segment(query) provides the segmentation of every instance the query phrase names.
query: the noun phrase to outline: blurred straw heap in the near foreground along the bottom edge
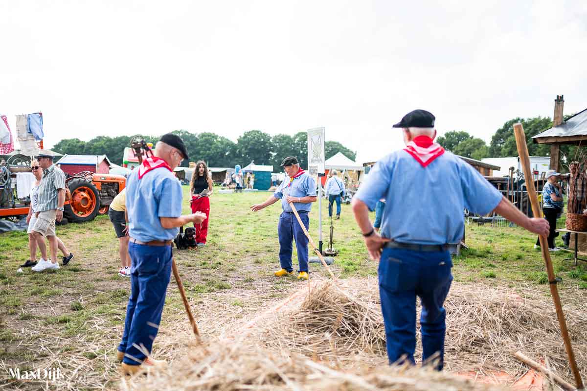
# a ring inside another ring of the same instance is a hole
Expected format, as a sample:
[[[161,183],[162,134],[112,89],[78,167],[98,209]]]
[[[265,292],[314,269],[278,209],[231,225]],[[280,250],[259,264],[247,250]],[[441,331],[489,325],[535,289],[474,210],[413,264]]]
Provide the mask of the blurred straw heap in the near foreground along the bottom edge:
[[[193,346],[171,368],[123,380],[126,390],[386,390],[481,391],[502,387],[474,383],[448,373],[384,366],[345,372],[302,356],[276,356],[234,343]]]

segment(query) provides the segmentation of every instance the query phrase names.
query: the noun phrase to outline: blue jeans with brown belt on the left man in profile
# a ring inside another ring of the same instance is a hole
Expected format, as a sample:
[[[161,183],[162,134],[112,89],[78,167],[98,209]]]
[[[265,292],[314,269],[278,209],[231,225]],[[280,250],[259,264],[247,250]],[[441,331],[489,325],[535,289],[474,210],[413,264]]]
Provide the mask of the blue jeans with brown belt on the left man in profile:
[[[124,356],[124,363],[139,365],[151,352],[161,322],[167,285],[171,277],[171,246],[147,246],[129,242],[130,297],[126,305],[124,333],[118,347],[138,361]]]

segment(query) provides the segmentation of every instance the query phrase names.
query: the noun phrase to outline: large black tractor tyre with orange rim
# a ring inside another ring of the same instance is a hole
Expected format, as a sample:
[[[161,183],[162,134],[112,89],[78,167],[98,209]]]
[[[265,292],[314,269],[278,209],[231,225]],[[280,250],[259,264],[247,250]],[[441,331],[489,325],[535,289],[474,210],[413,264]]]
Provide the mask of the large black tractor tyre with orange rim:
[[[75,223],[94,220],[100,209],[100,195],[92,181],[75,178],[68,182],[71,199],[65,205],[65,217]]]

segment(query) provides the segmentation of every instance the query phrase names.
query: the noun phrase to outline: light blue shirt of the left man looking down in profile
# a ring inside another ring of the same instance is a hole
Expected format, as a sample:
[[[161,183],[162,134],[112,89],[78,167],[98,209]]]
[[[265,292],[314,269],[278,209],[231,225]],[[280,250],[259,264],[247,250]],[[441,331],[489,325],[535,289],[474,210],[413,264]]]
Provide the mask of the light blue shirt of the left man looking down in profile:
[[[141,242],[175,238],[180,229],[161,227],[159,218],[180,217],[181,198],[180,181],[167,168],[155,168],[140,180],[139,170],[134,170],[126,182],[130,237]]]

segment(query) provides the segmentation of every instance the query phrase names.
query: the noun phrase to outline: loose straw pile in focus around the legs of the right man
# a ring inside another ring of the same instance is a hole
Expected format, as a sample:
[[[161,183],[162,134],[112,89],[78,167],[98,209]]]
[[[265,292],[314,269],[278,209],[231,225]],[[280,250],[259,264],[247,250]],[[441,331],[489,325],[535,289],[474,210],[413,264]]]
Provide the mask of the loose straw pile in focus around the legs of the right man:
[[[527,298],[512,295],[510,289],[453,283],[445,305],[445,369],[481,375],[497,370],[515,379],[528,369],[512,357],[520,350],[537,360],[548,357],[553,370],[572,379],[549,296],[531,288],[524,294]],[[569,299],[564,299],[564,311],[579,368],[587,374],[585,305],[571,304]],[[386,359],[375,278],[351,280],[342,289],[323,284],[299,308],[284,311],[274,322],[259,327],[257,338],[267,348],[291,350],[332,366],[353,366],[357,359],[379,365]],[[418,360],[420,343],[417,346]]]

